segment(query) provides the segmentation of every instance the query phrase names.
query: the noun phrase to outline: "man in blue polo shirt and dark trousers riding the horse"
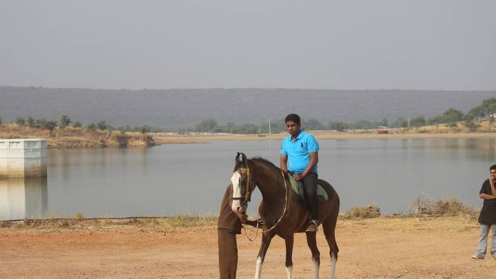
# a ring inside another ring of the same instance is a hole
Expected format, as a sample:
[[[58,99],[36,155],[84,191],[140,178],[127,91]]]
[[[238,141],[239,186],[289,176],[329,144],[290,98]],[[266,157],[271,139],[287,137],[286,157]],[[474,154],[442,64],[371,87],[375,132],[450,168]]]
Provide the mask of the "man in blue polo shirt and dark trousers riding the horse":
[[[311,220],[307,231],[317,231],[317,163],[319,144],[316,139],[301,130],[298,114],[289,114],[285,119],[289,136],[282,140],[280,149],[280,168],[298,182],[303,183],[304,193],[310,211]],[[289,159],[289,167],[288,167]]]

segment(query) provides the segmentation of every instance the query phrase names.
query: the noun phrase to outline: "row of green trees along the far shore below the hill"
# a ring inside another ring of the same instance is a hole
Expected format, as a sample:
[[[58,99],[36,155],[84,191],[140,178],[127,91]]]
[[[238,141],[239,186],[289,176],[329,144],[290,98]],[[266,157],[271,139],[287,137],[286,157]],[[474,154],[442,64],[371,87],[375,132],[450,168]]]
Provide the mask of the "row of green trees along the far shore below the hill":
[[[470,130],[474,130],[477,127],[477,123],[474,121],[479,121],[482,119],[489,119],[489,121],[494,121],[496,115],[496,98],[486,99],[482,101],[477,107],[473,107],[466,114],[462,110],[457,110],[454,107],[449,108],[440,115],[434,116],[432,118],[426,119],[424,116],[416,116],[415,118],[406,119],[404,117],[397,118],[395,121],[389,123],[386,118],[381,121],[357,121],[355,123],[347,122],[335,122],[330,121],[324,124],[315,118],[309,118],[308,120],[302,119],[302,127],[305,130],[364,130],[364,129],[376,129],[378,126],[388,126],[388,127],[421,127],[424,125],[437,125],[446,124],[451,127],[455,127],[457,122],[464,121],[464,125]],[[45,118],[34,119],[32,117],[21,118],[18,117],[13,123],[19,126],[28,126],[32,128],[47,129],[51,132],[55,127],[64,129],[65,127],[83,127],[82,123],[79,121],[72,122],[69,116],[63,115],[60,121],[47,121]],[[0,118],[0,125],[2,121]],[[90,123],[85,127],[87,130],[119,130],[122,132],[163,132],[159,128],[152,128],[149,125],[142,125],[137,127],[130,127],[127,125],[121,127],[113,127],[107,124],[105,121],[99,121],[97,123]],[[270,132],[280,133],[286,131],[286,126],[284,119],[276,119],[270,123]],[[230,133],[230,134],[267,134],[269,133],[269,121],[262,121],[260,123],[245,123],[237,125],[232,122],[228,122],[225,125],[219,125],[219,123],[214,118],[207,118],[200,121],[194,127],[188,127],[185,129],[180,129],[177,132],[216,132],[216,133]]]

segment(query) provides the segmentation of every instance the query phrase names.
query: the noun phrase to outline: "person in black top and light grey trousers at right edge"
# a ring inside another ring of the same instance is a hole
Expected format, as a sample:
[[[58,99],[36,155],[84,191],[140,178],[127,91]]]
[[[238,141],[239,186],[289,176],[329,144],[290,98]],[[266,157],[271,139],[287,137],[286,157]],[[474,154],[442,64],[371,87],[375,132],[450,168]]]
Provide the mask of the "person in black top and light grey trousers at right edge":
[[[491,245],[490,254],[496,260],[496,165],[489,167],[489,178],[482,183],[479,192],[479,197],[484,199],[481,213],[479,214],[479,246],[475,255],[472,256],[475,260],[483,260],[486,256],[487,249],[487,236],[490,227],[493,227],[493,241]]]

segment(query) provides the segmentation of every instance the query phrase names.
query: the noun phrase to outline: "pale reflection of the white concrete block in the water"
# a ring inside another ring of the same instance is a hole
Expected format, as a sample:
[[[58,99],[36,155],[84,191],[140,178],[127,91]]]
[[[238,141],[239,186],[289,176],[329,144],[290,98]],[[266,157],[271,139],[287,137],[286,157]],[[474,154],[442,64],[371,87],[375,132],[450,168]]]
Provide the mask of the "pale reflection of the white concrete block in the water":
[[[0,220],[46,218],[47,216],[46,177],[0,180]]]

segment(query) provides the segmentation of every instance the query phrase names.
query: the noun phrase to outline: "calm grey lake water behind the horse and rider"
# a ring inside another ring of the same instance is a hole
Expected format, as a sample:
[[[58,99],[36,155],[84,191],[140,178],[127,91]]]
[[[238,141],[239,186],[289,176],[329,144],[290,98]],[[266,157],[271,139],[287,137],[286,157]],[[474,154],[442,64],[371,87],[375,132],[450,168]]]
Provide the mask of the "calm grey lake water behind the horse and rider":
[[[216,214],[236,152],[278,165],[279,147],[280,141],[222,141],[50,149],[43,211],[56,216]],[[337,190],[340,211],[368,203],[385,214],[407,211],[420,193],[456,196],[479,207],[480,186],[496,163],[496,138],[328,140],[320,141],[319,158],[319,176]],[[259,201],[257,191],[251,214]]]

